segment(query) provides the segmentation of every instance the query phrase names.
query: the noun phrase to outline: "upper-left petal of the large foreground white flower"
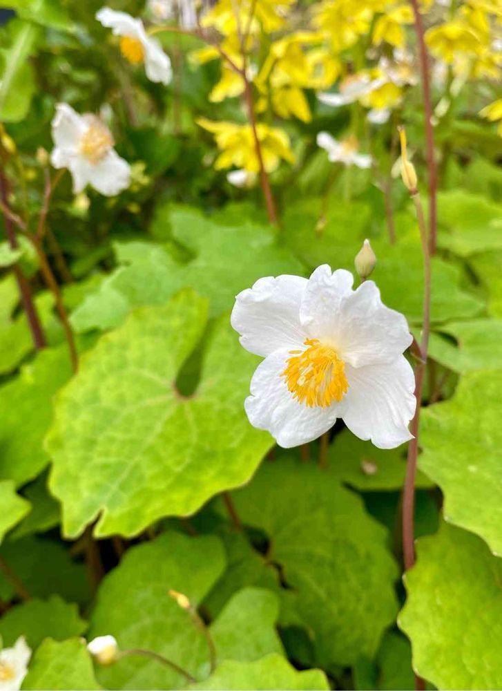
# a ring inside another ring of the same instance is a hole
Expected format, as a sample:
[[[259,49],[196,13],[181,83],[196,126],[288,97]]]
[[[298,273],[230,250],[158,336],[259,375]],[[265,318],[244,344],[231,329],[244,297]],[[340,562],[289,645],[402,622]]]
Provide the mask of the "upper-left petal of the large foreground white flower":
[[[238,294],[230,321],[246,350],[266,357],[278,348],[302,345],[307,334],[300,324],[300,301],[307,283],[301,276],[267,276]]]

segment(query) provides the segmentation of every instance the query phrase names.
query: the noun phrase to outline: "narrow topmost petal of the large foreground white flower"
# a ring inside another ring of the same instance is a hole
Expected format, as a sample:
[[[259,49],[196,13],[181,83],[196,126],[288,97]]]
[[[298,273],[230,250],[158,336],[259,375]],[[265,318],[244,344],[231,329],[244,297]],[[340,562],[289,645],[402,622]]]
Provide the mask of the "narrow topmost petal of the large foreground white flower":
[[[311,338],[332,341],[336,315],[344,296],[351,294],[354,276],[345,269],[331,272],[327,264],[317,267],[309,278],[300,305],[300,322]]]

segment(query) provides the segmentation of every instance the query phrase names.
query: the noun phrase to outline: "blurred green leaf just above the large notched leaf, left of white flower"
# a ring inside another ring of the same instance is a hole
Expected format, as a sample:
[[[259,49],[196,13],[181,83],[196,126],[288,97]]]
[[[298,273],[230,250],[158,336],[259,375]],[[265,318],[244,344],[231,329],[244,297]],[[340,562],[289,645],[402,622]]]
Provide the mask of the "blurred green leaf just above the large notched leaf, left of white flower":
[[[77,330],[117,326],[133,307],[164,305],[182,287],[194,287],[207,297],[210,316],[217,316],[232,307],[240,290],[261,276],[302,272],[300,263],[278,246],[269,228],[224,226],[195,211],[175,211],[171,225],[175,240],[193,257],[191,261],[177,263],[162,245],[117,245],[122,265],[75,310],[72,322]]]

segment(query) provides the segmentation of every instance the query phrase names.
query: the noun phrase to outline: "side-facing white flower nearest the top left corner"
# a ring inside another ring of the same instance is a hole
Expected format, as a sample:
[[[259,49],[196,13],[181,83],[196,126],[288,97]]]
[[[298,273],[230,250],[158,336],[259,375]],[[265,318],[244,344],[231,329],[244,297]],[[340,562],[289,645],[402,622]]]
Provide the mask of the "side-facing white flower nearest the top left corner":
[[[120,39],[120,50],[122,55],[133,65],[142,62],[145,72],[151,82],[162,82],[169,84],[173,77],[171,60],[162,50],[157,39],[153,39],[146,34],[141,19],[135,19],[126,12],[115,12],[108,7],[104,7],[97,12],[96,19],[113,29],[115,36]]]

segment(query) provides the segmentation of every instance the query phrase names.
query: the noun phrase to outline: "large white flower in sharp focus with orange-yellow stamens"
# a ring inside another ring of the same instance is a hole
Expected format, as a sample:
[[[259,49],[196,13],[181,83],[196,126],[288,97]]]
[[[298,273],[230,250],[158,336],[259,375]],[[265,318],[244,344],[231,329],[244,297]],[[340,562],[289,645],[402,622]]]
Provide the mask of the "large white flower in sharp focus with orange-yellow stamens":
[[[251,424],[289,448],[316,439],[338,417],[360,439],[394,448],[412,435],[412,343],[403,314],[383,305],[373,281],[352,290],[344,269],[260,278],[238,294],[231,323],[264,357],[244,404]]]

